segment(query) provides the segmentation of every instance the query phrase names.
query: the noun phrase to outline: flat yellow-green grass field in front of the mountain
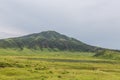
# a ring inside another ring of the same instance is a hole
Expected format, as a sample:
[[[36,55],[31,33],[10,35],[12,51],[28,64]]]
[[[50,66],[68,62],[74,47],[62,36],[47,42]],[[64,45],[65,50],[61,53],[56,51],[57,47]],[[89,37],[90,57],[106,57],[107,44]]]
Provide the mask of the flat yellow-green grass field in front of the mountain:
[[[120,80],[120,61],[94,53],[0,49],[0,80]]]

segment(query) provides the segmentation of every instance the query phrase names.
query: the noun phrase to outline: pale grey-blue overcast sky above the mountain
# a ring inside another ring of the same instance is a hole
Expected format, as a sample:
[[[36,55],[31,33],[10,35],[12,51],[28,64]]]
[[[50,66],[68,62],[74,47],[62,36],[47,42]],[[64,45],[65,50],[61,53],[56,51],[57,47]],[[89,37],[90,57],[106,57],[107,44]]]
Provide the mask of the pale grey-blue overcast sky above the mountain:
[[[0,38],[47,30],[120,49],[120,0],[0,0]]]

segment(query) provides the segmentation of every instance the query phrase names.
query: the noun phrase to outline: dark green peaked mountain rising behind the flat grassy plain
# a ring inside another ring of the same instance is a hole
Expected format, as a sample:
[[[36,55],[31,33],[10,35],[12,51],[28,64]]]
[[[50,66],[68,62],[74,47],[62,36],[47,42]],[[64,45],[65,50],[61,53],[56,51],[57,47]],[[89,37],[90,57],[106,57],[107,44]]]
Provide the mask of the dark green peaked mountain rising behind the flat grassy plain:
[[[93,52],[102,48],[85,44],[77,39],[65,36],[56,31],[44,31],[22,37],[8,38],[0,40],[0,48],[13,48],[23,50],[28,49],[48,49],[60,51],[89,51]]]

